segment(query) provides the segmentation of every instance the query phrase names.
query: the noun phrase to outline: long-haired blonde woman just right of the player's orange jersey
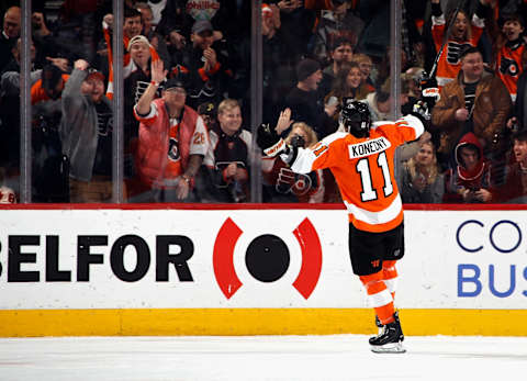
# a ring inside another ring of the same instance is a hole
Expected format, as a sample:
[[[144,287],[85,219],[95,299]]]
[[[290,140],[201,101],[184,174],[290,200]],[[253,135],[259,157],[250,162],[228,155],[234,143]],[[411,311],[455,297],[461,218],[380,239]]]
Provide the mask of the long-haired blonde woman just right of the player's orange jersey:
[[[430,141],[419,144],[419,150],[403,164],[401,173],[403,203],[440,203],[445,179],[439,173],[436,149]]]

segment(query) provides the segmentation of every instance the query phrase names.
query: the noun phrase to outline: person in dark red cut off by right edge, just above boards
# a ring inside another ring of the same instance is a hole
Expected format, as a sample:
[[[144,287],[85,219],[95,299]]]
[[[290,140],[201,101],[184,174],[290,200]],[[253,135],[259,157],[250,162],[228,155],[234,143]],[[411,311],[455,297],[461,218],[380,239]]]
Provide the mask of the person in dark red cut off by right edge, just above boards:
[[[527,131],[513,135],[515,163],[508,165],[502,187],[492,189],[492,202],[527,203]]]

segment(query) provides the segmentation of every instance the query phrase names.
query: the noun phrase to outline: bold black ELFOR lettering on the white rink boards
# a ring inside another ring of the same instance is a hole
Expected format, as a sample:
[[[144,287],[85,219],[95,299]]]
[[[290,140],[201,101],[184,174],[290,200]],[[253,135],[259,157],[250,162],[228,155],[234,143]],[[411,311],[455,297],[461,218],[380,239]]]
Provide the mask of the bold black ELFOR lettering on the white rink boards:
[[[45,274],[46,282],[71,282],[71,270],[61,269],[59,262],[59,236],[46,235],[10,235],[8,237],[8,282],[40,282],[41,272],[24,270],[24,267],[36,264],[36,247],[45,245]],[[104,247],[109,246],[108,235],[77,236],[76,264],[77,282],[89,282],[91,271],[104,264]],[[177,253],[173,250],[177,249]],[[125,253],[126,251],[126,253]],[[156,282],[169,281],[169,268],[173,267],[181,282],[192,282],[193,277],[189,267],[189,259],[194,253],[192,240],[182,235],[156,236],[155,261]],[[125,256],[135,257],[135,266],[127,269]],[[115,239],[110,248],[110,268],[112,273],[123,282],[142,280],[150,268],[152,249],[147,242],[138,235],[123,235]],[[0,272],[1,276],[1,272]]]

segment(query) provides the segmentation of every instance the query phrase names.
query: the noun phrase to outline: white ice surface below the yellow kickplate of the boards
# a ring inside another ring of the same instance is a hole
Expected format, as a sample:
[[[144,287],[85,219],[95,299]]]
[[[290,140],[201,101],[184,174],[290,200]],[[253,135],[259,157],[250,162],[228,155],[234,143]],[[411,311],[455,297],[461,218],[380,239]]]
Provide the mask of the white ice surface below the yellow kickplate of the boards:
[[[362,335],[1,338],[0,380],[526,380],[527,337]]]

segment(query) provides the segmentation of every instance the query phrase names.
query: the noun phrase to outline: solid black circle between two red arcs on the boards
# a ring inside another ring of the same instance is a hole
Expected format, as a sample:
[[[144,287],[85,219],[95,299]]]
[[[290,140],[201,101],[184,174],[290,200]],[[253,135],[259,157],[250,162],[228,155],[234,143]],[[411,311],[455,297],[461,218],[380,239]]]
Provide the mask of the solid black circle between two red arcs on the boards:
[[[289,268],[289,248],[276,235],[265,234],[256,237],[247,247],[245,264],[250,274],[261,282],[273,282]]]

